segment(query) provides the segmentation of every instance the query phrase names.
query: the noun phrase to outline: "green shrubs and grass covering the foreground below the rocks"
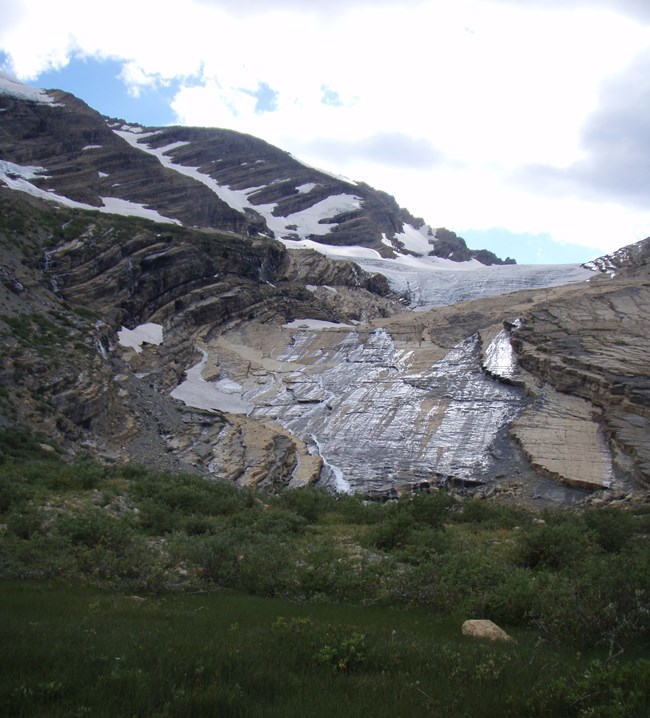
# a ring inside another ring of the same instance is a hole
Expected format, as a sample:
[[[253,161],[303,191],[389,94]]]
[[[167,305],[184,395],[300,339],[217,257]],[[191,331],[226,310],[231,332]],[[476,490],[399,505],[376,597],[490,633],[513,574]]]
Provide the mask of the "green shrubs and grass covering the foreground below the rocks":
[[[0,430],[0,713],[641,718],[649,530],[642,508],[274,497]]]

